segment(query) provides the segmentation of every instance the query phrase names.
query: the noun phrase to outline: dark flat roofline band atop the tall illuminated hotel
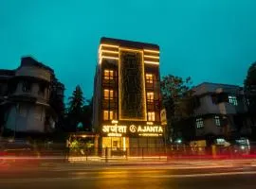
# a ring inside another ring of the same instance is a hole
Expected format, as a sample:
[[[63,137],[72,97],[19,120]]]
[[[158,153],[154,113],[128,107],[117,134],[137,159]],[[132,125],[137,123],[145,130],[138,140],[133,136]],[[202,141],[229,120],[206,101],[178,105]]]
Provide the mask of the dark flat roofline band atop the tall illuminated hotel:
[[[101,43],[111,43],[111,44],[116,44],[116,45],[125,46],[125,47],[151,48],[151,49],[159,50],[159,46],[155,43],[140,43],[140,42],[134,42],[134,41],[128,41],[128,40],[119,40],[115,38],[107,38],[107,37],[102,37]]]

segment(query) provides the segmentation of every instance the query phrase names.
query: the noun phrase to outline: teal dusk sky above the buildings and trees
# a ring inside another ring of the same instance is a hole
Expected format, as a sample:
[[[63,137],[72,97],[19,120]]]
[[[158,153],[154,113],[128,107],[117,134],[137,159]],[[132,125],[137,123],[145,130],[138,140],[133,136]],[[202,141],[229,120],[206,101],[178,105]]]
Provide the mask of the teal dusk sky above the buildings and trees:
[[[161,75],[243,84],[256,60],[256,0],[1,0],[0,68],[31,55],[65,95],[91,97],[102,36],[157,43]]]

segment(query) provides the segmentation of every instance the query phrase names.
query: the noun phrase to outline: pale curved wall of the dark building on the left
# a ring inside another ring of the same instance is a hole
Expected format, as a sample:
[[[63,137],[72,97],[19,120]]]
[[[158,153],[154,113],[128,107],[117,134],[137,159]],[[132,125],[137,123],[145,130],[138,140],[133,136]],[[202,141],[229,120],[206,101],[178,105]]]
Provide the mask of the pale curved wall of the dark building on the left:
[[[17,105],[10,107],[7,113],[7,129],[15,129],[16,131],[45,131],[46,122],[46,107],[48,106],[49,100],[49,86],[46,85],[45,93],[40,94],[40,80],[38,78],[45,80],[45,82],[50,82],[51,72],[44,68],[38,66],[22,66],[19,67],[15,73],[15,76],[21,77],[20,81],[17,83],[16,90],[13,94],[16,96],[17,100],[20,97],[34,97],[33,102],[23,102],[21,100],[17,102]],[[27,80],[27,77],[35,77],[31,79],[31,88],[29,91],[23,91],[23,82]],[[40,105],[39,105],[40,104]],[[16,107],[19,107],[18,109]]]

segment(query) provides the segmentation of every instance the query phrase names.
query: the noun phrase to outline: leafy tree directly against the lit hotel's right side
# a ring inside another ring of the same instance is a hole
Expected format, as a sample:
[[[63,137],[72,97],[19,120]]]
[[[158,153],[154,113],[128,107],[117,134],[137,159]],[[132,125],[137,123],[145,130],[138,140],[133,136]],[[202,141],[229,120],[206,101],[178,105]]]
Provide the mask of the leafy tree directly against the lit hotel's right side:
[[[192,78],[184,79],[168,75],[162,77],[160,86],[163,105],[167,112],[168,129],[174,136],[185,128],[182,124],[186,123],[184,120],[187,120],[193,112]]]

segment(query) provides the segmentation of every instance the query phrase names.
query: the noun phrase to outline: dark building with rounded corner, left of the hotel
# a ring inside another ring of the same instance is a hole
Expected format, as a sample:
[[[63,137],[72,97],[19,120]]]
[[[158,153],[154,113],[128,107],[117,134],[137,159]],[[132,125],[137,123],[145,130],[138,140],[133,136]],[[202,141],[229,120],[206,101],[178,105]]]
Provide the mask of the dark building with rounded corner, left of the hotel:
[[[47,132],[55,128],[58,114],[50,96],[64,98],[64,85],[54,71],[30,57],[15,70],[0,70],[1,125],[16,132]]]

